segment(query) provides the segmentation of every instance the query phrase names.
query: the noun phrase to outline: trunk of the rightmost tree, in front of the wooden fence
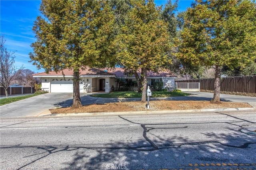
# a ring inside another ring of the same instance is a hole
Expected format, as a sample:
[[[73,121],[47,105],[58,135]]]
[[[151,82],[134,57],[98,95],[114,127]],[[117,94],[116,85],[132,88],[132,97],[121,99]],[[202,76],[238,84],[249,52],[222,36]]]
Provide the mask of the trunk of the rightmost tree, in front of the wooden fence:
[[[214,81],[214,96],[212,99],[212,103],[220,102],[220,66],[215,66],[215,81]]]

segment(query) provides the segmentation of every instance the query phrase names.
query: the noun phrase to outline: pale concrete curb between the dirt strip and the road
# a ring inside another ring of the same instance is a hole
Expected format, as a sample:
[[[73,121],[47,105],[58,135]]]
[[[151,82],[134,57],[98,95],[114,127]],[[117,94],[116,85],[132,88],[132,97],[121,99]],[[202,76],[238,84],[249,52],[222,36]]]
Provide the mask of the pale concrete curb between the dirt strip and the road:
[[[54,116],[54,117],[84,117],[84,116],[118,116],[118,115],[156,115],[170,113],[191,113],[191,112],[210,112],[210,111],[250,111],[256,110],[256,107],[244,108],[223,108],[223,109],[188,109],[188,110],[154,110],[154,111],[120,111],[120,112],[92,112],[92,113],[60,113],[47,114],[50,111],[44,111],[38,116]]]

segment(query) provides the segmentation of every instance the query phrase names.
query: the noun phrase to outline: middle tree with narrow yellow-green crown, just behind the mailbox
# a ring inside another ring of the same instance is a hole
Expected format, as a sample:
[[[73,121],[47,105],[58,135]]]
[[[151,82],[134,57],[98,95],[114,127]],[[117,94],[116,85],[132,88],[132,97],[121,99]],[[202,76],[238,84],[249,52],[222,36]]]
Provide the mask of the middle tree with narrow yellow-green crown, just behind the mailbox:
[[[170,62],[170,37],[167,23],[153,0],[131,0],[130,6],[116,38],[117,55],[120,64],[132,70],[142,90],[141,101],[146,102],[147,71],[157,71]]]

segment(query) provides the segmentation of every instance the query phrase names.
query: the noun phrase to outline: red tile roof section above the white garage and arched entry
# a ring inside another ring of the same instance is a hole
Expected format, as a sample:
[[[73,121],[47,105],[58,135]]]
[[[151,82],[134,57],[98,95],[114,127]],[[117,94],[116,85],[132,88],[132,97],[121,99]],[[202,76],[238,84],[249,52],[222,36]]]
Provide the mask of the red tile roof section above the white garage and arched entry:
[[[79,70],[79,72],[80,76],[115,76],[115,74],[113,73],[89,67],[86,67],[85,70]],[[63,74],[65,76],[73,76],[73,69],[64,69]],[[46,72],[41,72],[33,74],[33,76],[62,76],[62,71],[58,71],[57,73],[54,71],[50,71],[48,72],[48,74]]]

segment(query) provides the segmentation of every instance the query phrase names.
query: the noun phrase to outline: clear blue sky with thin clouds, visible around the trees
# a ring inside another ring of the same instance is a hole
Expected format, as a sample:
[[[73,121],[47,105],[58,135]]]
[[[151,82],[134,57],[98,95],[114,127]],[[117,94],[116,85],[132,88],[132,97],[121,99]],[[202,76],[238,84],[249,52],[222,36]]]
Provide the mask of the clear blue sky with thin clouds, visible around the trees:
[[[166,4],[166,0],[155,0],[156,5]],[[190,7],[192,0],[180,0],[178,11],[184,11]],[[8,51],[15,52],[15,65],[19,68],[23,65],[34,72],[36,66],[29,63],[28,53],[32,52],[30,44],[36,41],[32,31],[33,23],[40,16],[40,0],[1,0],[0,1],[0,32],[6,39],[5,47]]]

